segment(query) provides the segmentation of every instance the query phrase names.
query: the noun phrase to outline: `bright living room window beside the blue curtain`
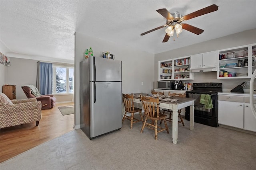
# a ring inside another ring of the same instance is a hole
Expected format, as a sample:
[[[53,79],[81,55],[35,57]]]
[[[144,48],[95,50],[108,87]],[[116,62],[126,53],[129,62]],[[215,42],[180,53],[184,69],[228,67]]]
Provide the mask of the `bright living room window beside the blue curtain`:
[[[74,93],[74,67],[53,65],[52,94]]]

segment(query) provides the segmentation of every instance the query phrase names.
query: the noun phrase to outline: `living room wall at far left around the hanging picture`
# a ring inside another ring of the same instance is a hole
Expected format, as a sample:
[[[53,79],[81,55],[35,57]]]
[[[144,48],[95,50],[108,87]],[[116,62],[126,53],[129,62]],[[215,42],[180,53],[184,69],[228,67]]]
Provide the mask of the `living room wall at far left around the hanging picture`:
[[[0,40],[0,52],[4,55],[7,54],[7,52],[10,51],[8,49],[8,47],[6,47],[6,45]],[[8,55],[6,55],[8,57]],[[6,70],[7,70],[7,66],[5,66],[4,64],[0,64],[0,92],[2,92],[2,86],[5,83],[5,79],[6,79]]]

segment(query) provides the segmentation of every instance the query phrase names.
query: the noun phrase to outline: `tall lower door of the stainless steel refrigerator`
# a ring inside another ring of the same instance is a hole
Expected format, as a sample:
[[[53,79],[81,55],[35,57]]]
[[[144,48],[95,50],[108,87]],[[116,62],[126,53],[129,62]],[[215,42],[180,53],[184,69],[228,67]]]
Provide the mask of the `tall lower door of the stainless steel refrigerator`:
[[[120,129],[122,82],[90,82],[90,91],[90,137]]]

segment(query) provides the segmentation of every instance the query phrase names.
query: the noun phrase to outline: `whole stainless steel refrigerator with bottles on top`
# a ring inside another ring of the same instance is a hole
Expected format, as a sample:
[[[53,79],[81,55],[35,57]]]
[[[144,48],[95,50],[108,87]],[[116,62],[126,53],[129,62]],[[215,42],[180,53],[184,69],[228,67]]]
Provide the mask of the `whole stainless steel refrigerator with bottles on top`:
[[[80,126],[90,139],[122,127],[122,61],[80,62]]]

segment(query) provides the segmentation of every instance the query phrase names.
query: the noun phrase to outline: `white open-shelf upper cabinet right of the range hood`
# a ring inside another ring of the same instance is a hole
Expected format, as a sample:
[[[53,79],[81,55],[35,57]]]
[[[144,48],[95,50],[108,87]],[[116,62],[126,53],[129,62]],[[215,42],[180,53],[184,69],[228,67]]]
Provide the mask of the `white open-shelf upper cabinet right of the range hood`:
[[[243,45],[218,52],[218,79],[251,78],[256,68],[256,44]],[[223,76],[223,72],[234,72],[236,76]]]

